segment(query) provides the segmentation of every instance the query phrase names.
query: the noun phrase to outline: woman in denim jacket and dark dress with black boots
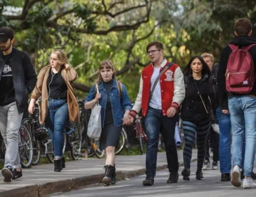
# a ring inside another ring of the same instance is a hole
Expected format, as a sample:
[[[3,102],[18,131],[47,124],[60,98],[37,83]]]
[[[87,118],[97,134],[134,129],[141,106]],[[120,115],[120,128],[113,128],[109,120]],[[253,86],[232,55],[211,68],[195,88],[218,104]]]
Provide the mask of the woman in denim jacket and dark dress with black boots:
[[[101,106],[101,126],[100,147],[106,153],[105,177],[102,182],[105,185],[116,183],[115,168],[115,146],[119,142],[123,124],[129,123],[129,113],[132,105],[123,84],[118,89],[116,74],[113,63],[102,61],[99,67],[99,94],[92,86],[89,95],[85,99],[85,109],[91,109],[99,102]],[[120,95],[122,94],[122,95]]]

